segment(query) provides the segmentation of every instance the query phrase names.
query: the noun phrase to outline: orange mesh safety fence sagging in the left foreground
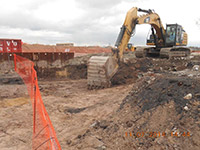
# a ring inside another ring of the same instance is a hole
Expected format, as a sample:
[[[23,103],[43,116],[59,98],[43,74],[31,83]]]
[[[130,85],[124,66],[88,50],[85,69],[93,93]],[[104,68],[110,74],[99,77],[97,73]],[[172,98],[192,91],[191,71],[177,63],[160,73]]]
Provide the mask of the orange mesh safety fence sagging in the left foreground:
[[[34,63],[14,54],[15,71],[27,86],[33,107],[33,150],[61,150],[56,133],[44,107]]]

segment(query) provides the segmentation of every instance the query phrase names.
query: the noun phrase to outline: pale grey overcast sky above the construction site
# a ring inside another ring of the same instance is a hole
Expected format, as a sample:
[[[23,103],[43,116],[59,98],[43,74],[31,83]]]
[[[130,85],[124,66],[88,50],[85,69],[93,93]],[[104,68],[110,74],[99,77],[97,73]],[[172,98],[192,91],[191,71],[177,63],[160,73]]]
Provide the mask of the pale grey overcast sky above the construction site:
[[[26,43],[113,46],[131,7],[154,9],[163,25],[178,23],[189,45],[200,46],[199,0],[1,0],[0,38]],[[145,45],[149,25],[131,38]]]

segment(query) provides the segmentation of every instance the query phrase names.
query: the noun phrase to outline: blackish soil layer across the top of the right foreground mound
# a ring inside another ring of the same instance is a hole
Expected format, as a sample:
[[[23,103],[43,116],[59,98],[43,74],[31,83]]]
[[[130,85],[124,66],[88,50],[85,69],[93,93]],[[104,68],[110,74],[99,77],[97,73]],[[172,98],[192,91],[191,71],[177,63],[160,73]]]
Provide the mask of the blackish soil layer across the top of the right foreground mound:
[[[190,104],[193,100],[200,101],[200,84],[199,81],[188,77],[162,77],[153,84],[147,85],[139,93],[133,93],[134,90],[130,92],[124,101],[135,106],[135,98],[137,98],[137,105],[141,107],[142,112],[173,100],[177,112],[182,113],[186,104]],[[184,99],[183,97],[189,93],[193,95],[193,98],[191,100]]]

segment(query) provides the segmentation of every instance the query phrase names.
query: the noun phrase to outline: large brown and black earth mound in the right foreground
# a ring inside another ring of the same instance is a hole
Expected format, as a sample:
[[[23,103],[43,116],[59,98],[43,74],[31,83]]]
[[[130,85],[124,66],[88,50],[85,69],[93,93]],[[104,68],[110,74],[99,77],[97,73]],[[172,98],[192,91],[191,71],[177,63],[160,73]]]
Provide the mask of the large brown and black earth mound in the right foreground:
[[[198,150],[199,82],[186,77],[145,75],[134,84],[119,110],[107,120],[96,120],[77,137],[77,143],[93,136],[103,143],[102,149]]]

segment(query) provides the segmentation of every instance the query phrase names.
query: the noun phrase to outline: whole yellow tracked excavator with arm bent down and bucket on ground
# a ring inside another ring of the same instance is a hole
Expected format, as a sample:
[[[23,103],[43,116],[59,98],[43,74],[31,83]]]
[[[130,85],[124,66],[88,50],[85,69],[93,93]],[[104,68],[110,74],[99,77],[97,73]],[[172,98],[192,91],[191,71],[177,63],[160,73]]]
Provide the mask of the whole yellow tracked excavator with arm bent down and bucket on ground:
[[[138,12],[143,13],[138,15]],[[111,78],[117,72],[120,62],[123,61],[123,52],[135,30],[136,25],[151,25],[151,35],[147,39],[148,47],[136,47],[135,55],[142,57],[188,57],[190,49],[187,45],[187,33],[181,25],[167,24],[163,27],[161,19],[153,10],[131,8],[121,27],[112,56],[92,56],[88,62],[87,84],[88,89],[99,89],[111,86]],[[151,45],[151,46],[150,46]]]

